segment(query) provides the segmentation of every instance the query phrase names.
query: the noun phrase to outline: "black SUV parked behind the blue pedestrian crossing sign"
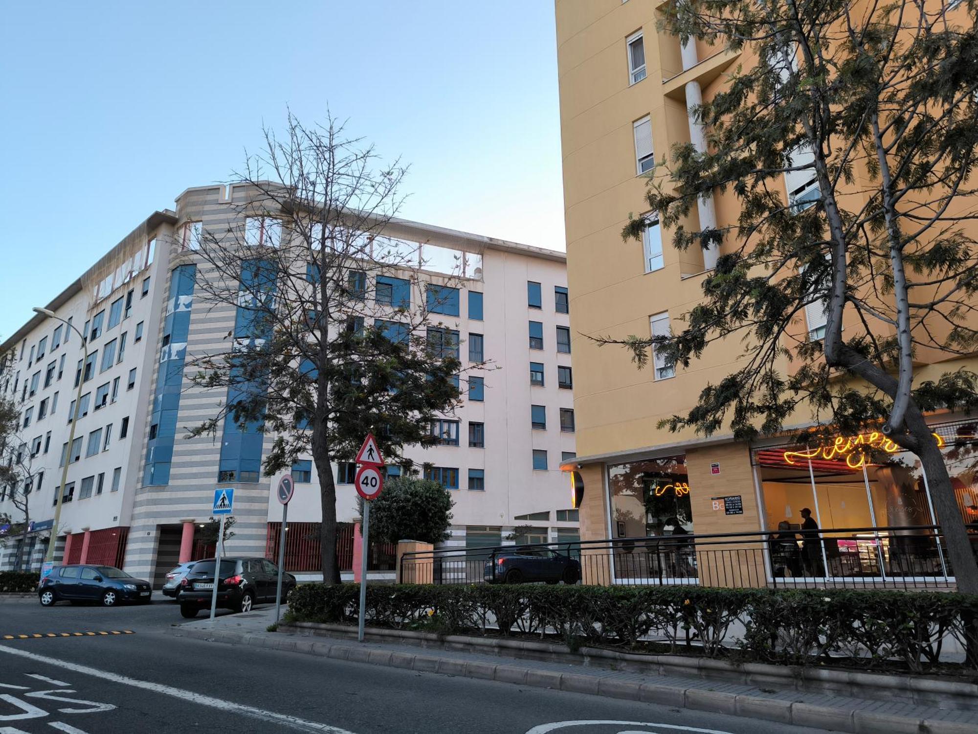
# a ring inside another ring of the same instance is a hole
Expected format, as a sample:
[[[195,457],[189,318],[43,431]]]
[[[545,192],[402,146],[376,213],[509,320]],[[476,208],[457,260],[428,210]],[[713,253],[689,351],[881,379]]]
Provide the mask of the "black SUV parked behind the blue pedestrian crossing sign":
[[[261,602],[274,602],[279,569],[264,558],[222,558],[217,581],[217,606],[248,612]],[[282,574],[282,599],[295,588],[295,576]],[[180,614],[197,617],[201,609],[210,609],[214,590],[214,559],[198,561],[180,581]]]

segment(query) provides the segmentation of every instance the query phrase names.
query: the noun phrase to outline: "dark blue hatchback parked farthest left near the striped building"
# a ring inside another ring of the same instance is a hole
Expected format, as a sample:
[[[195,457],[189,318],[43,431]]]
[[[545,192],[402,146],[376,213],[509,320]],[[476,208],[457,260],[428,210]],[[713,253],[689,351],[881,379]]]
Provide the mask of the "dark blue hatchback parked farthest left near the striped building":
[[[50,607],[63,599],[72,604],[98,602],[103,607],[114,607],[121,602],[149,604],[152,596],[149,581],[134,578],[112,566],[59,566],[37,587],[37,598],[42,607]]]

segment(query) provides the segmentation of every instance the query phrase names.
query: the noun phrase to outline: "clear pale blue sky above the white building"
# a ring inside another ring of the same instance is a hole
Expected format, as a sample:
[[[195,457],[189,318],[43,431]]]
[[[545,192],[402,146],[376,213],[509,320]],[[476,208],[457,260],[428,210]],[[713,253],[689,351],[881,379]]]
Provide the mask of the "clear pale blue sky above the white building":
[[[0,48],[0,341],[263,123],[410,163],[403,215],[563,250],[552,0],[21,2]]]

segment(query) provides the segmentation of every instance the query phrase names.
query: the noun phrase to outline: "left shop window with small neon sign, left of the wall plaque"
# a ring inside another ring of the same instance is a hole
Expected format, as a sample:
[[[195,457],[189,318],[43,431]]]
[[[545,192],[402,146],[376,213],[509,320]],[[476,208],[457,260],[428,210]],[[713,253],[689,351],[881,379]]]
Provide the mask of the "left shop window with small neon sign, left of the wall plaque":
[[[611,534],[619,579],[696,576],[689,476],[682,454],[608,467]]]

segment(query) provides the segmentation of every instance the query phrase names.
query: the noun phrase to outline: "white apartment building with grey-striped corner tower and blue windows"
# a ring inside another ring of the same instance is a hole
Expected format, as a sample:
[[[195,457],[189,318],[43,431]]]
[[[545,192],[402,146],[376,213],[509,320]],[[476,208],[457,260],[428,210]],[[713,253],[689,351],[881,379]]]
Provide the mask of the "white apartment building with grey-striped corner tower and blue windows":
[[[260,471],[272,436],[185,437],[227,398],[193,385],[185,364],[226,346],[236,317],[234,306],[195,296],[207,271],[188,243],[199,228],[226,230],[240,216],[240,199],[235,187],[186,190],[175,210],[155,212],[46,304],[87,337],[87,359],[73,329],[40,314],[0,344],[0,359],[10,360],[0,389],[21,405],[22,465],[32,477],[22,566],[36,568],[47,548],[63,452],[69,463],[56,560],[121,565],[158,583],[179,561],[212,553],[201,526],[219,481],[236,490],[227,551],[275,558],[279,478]],[[559,470],[574,456],[564,254],[415,222],[388,230],[418,245],[421,280],[447,289],[436,317],[458,332],[467,369],[463,404],[433,428],[445,436],[442,444],[406,451],[452,493],[447,545],[576,539],[577,511]],[[81,415],[68,444],[79,386]],[[343,568],[352,555],[356,492],[349,464],[333,471]],[[311,456],[292,475],[287,568],[313,577],[320,505]],[[0,515],[23,519],[7,487],[0,488]],[[16,528],[0,547],[2,570],[18,555]],[[380,572],[392,571],[389,559],[375,560]]]

